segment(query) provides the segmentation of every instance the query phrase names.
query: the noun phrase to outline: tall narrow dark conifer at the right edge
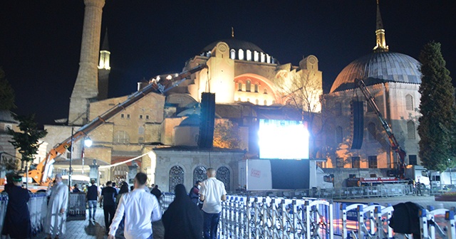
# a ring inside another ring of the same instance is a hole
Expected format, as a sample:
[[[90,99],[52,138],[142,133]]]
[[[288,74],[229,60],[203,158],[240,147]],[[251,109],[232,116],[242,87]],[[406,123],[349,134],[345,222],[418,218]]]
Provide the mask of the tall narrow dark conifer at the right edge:
[[[440,43],[427,43],[420,53],[420,159],[427,169],[443,171],[454,158],[455,88],[440,51]]]

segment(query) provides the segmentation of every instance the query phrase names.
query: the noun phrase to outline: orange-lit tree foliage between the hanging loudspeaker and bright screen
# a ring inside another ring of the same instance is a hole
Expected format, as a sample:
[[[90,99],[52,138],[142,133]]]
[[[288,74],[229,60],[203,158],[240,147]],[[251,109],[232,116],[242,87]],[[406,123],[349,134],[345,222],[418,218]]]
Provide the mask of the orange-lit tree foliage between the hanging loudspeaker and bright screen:
[[[222,120],[214,125],[214,147],[239,149],[239,127],[229,120]]]

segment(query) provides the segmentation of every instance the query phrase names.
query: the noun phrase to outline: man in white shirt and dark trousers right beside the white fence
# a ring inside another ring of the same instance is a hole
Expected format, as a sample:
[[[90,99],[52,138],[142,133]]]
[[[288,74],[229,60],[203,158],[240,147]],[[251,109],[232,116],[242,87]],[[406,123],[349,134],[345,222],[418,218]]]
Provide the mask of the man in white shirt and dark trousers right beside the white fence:
[[[207,169],[207,179],[201,184],[199,199],[203,201],[204,214],[203,233],[204,239],[217,238],[217,225],[219,225],[222,201],[227,200],[227,191],[222,181],[215,178],[215,169]]]

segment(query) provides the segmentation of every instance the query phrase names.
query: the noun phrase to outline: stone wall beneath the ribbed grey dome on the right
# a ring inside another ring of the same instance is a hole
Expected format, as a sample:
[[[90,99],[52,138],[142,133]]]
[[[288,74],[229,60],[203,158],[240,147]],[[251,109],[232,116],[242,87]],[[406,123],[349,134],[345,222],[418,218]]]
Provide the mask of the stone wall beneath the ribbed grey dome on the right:
[[[393,134],[403,149],[408,154],[418,155],[418,105],[420,95],[419,85],[406,83],[385,83],[368,86],[378,105],[380,112],[390,124]],[[405,95],[413,97],[413,109],[406,110]],[[361,149],[350,149],[351,147],[351,101],[364,101],[364,133],[363,146]],[[339,105],[340,104],[340,105]],[[415,139],[408,139],[408,122],[413,122],[415,128],[413,136]],[[343,168],[352,167],[352,156],[360,156],[361,168],[368,168],[368,157],[377,156],[377,168],[391,169],[395,167],[398,160],[390,148],[388,135],[383,129],[375,112],[368,107],[367,102],[360,90],[345,90],[332,92],[323,95],[323,122],[325,122],[324,134],[326,152],[328,155],[327,167],[341,167],[337,165],[337,158],[344,161]],[[375,127],[370,127],[374,125]],[[342,142],[336,142],[336,128],[343,129]],[[420,160],[418,159],[418,164]]]

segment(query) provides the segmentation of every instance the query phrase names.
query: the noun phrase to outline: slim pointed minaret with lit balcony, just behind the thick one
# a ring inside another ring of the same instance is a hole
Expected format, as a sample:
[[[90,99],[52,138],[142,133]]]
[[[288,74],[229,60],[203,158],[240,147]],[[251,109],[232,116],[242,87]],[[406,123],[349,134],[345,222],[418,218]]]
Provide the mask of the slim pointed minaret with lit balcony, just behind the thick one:
[[[110,54],[108,28],[106,28],[103,45],[101,45],[100,49],[100,63],[98,64],[98,100],[108,98],[109,73],[111,69],[109,65]]]

